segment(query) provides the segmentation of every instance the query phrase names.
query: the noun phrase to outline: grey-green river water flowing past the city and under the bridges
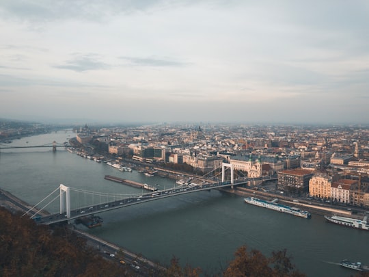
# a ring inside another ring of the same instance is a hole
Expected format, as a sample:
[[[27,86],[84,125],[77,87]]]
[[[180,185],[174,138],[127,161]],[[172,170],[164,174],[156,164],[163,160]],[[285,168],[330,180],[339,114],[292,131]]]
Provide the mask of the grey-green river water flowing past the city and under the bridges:
[[[58,131],[15,140],[16,146],[68,141],[74,134]],[[139,172],[120,172],[105,163],[96,163],[58,148],[23,148],[0,153],[0,187],[35,205],[64,184],[92,192],[139,194],[141,189],[104,179],[105,174],[120,176],[159,189],[175,182],[147,177]],[[83,196],[72,205],[90,201]],[[58,211],[58,200],[47,209]],[[88,205],[88,204],[87,204]],[[101,227],[89,233],[167,265],[176,256],[208,273],[219,273],[240,246],[260,250],[266,256],[287,249],[292,262],[307,276],[346,277],[355,272],[341,268],[342,259],[369,265],[369,232],[325,222],[312,215],[306,220],[284,213],[247,205],[241,196],[218,191],[174,196],[99,214]],[[82,226],[79,228],[83,228]]]

